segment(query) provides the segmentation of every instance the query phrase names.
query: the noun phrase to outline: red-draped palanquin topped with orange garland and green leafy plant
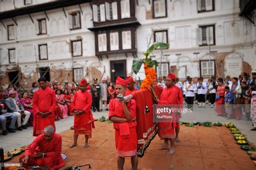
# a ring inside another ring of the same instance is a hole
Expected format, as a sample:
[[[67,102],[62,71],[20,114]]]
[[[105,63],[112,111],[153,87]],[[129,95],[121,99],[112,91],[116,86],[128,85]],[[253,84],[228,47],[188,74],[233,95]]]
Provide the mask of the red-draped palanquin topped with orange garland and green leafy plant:
[[[156,97],[154,90],[152,89],[152,83],[157,78],[154,65],[158,66],[156,60],[152,60],[149,57],[150,53],[155,49],[166,49],[169,44],[166,43],[154,43],[143,53],[145,59],[133,60],[132,70],[134,73],[138,73],[142,64],[144,64],[145,79],[140,86],[139,91],[132,93],[132,98],[136,100],[136,121],[137,121],[137,138],[138,138],[138,157],[143,157],[150,142],[157,134],[156,124],[153,123],[153,98]]]

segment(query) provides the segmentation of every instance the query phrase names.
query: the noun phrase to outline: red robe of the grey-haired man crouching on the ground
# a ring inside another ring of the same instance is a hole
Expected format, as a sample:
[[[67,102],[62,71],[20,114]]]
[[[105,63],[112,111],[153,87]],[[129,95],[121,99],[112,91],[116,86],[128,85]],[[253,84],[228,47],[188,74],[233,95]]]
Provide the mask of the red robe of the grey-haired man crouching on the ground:
[[[24,167],[38,165],[40,167],[48,167],[48,169],[57,169],[65,165],[64,160],[60,156],[62,152],[62,137],[55,133],[53,138],[48,142],[44,139],[44,134],[39,135],[26,149],[25,154],[19,158],[19,162],[28,155],[30,157]],[[46,153],[47,157],[34,159],[36,153]]]

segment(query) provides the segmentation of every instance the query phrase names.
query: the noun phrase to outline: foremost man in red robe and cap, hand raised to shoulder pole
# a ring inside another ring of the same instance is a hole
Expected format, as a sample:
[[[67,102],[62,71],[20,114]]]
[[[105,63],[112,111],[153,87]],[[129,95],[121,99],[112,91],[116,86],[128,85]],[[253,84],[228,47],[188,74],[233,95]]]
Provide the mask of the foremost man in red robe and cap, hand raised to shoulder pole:
[[[116,93],[125,94],[127,83],[117,77]],[[110,100],[109,119],[113,121],[116,149],[118,153],[118,169],[123,169],[125,157],[131,157],[132,169],[137,169],[137,133],[136,133],[136,102],[120,102],[117,98]]]

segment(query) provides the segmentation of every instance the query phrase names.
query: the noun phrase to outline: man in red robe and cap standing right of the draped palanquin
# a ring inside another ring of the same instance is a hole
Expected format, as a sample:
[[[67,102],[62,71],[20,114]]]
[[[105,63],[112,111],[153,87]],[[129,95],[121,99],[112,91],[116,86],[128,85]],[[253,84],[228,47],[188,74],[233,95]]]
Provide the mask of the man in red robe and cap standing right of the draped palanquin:
[[[179,91],[176,89],[176,87],[174,87],[175,79],[176,79],[176,76],[174,74],[172,73],[168,74],[165,80],[166,88],[161,93],[160,99],[153,98],[156,104],[177,105]],[[173,115],[175,117],[175,113]],[[174,131],[174,127],[176,126],[175,121],[158,123],[157,126],[158,126],[158,135],[160,139],[164,139],[164,142],[165,142],[164,146],[160,147],[159,149],[169,149],[168,141],[171,140],[171,148],[169,152],[167,152],[166,154],[172,155],[175,152],[175,147],[174,147],[175,139],[176,139],[176,135]]]

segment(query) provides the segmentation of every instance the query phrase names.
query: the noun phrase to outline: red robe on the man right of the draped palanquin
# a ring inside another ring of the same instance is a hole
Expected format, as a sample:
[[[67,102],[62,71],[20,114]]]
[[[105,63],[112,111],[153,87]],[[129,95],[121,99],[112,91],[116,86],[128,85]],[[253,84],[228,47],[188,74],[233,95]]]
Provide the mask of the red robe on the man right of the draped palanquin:
[[[169,104],[175,105],[178,104],[178,96],[179,91],[176,87],[166,87],[161,93],[158,104]],[[176,114],[173,113],[173,120],[176,120]],[[163,138],[175,138],[174,127],[176,127],[176,123],[174,122],[166,122],[166,123],[158,123],[158,135],[161,139]]]

